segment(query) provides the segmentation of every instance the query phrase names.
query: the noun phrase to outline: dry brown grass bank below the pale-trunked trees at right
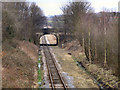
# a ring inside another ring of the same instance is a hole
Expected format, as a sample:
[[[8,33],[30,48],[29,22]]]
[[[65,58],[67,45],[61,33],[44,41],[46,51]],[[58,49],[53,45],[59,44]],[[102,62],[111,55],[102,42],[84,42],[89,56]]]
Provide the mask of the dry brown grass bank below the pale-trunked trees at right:
[[[75,44],[75,41],[66,43],[65,50],[71,52],[72,56],[76,57],[78,61],[82,62],[84,67],[87,69],[87,71],[89,71],[93,75],[97,76],[97,78],[99,78],[99,79],[101,78],[104,83],[106,83],[110,86],[113,85],[117,88],[118,86],[115,82],[118,81],[118,77],[113,75],[113,73],[112,73],[113,71],[111,69],[106,70],[98,64],[90,64],[86,60],[85,54],[81,51],[82,47],[79,46],[76,50],[73,51],[73,49],[76,48],[76,44]],[[71,50],[70,50],[70,48],[71,48]]]

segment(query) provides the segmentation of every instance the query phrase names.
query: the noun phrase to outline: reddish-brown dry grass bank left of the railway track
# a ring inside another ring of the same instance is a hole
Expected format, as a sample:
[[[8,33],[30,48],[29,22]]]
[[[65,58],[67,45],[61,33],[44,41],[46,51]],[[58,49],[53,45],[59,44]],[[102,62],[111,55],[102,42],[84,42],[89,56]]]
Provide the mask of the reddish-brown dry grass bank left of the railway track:
[[[30,88],[35,86],[35,71],[37,70],[36,59],[22,51],[16,40],[3,43],[6,56],[2,58],[2,86],[3,88]],[[32,45],[26,49],[31,48]],[[31,51],[30,51],[31,52]],[[36,57],[36,56],[34,56]],[[37,58],[37,57],[36,57]]]

